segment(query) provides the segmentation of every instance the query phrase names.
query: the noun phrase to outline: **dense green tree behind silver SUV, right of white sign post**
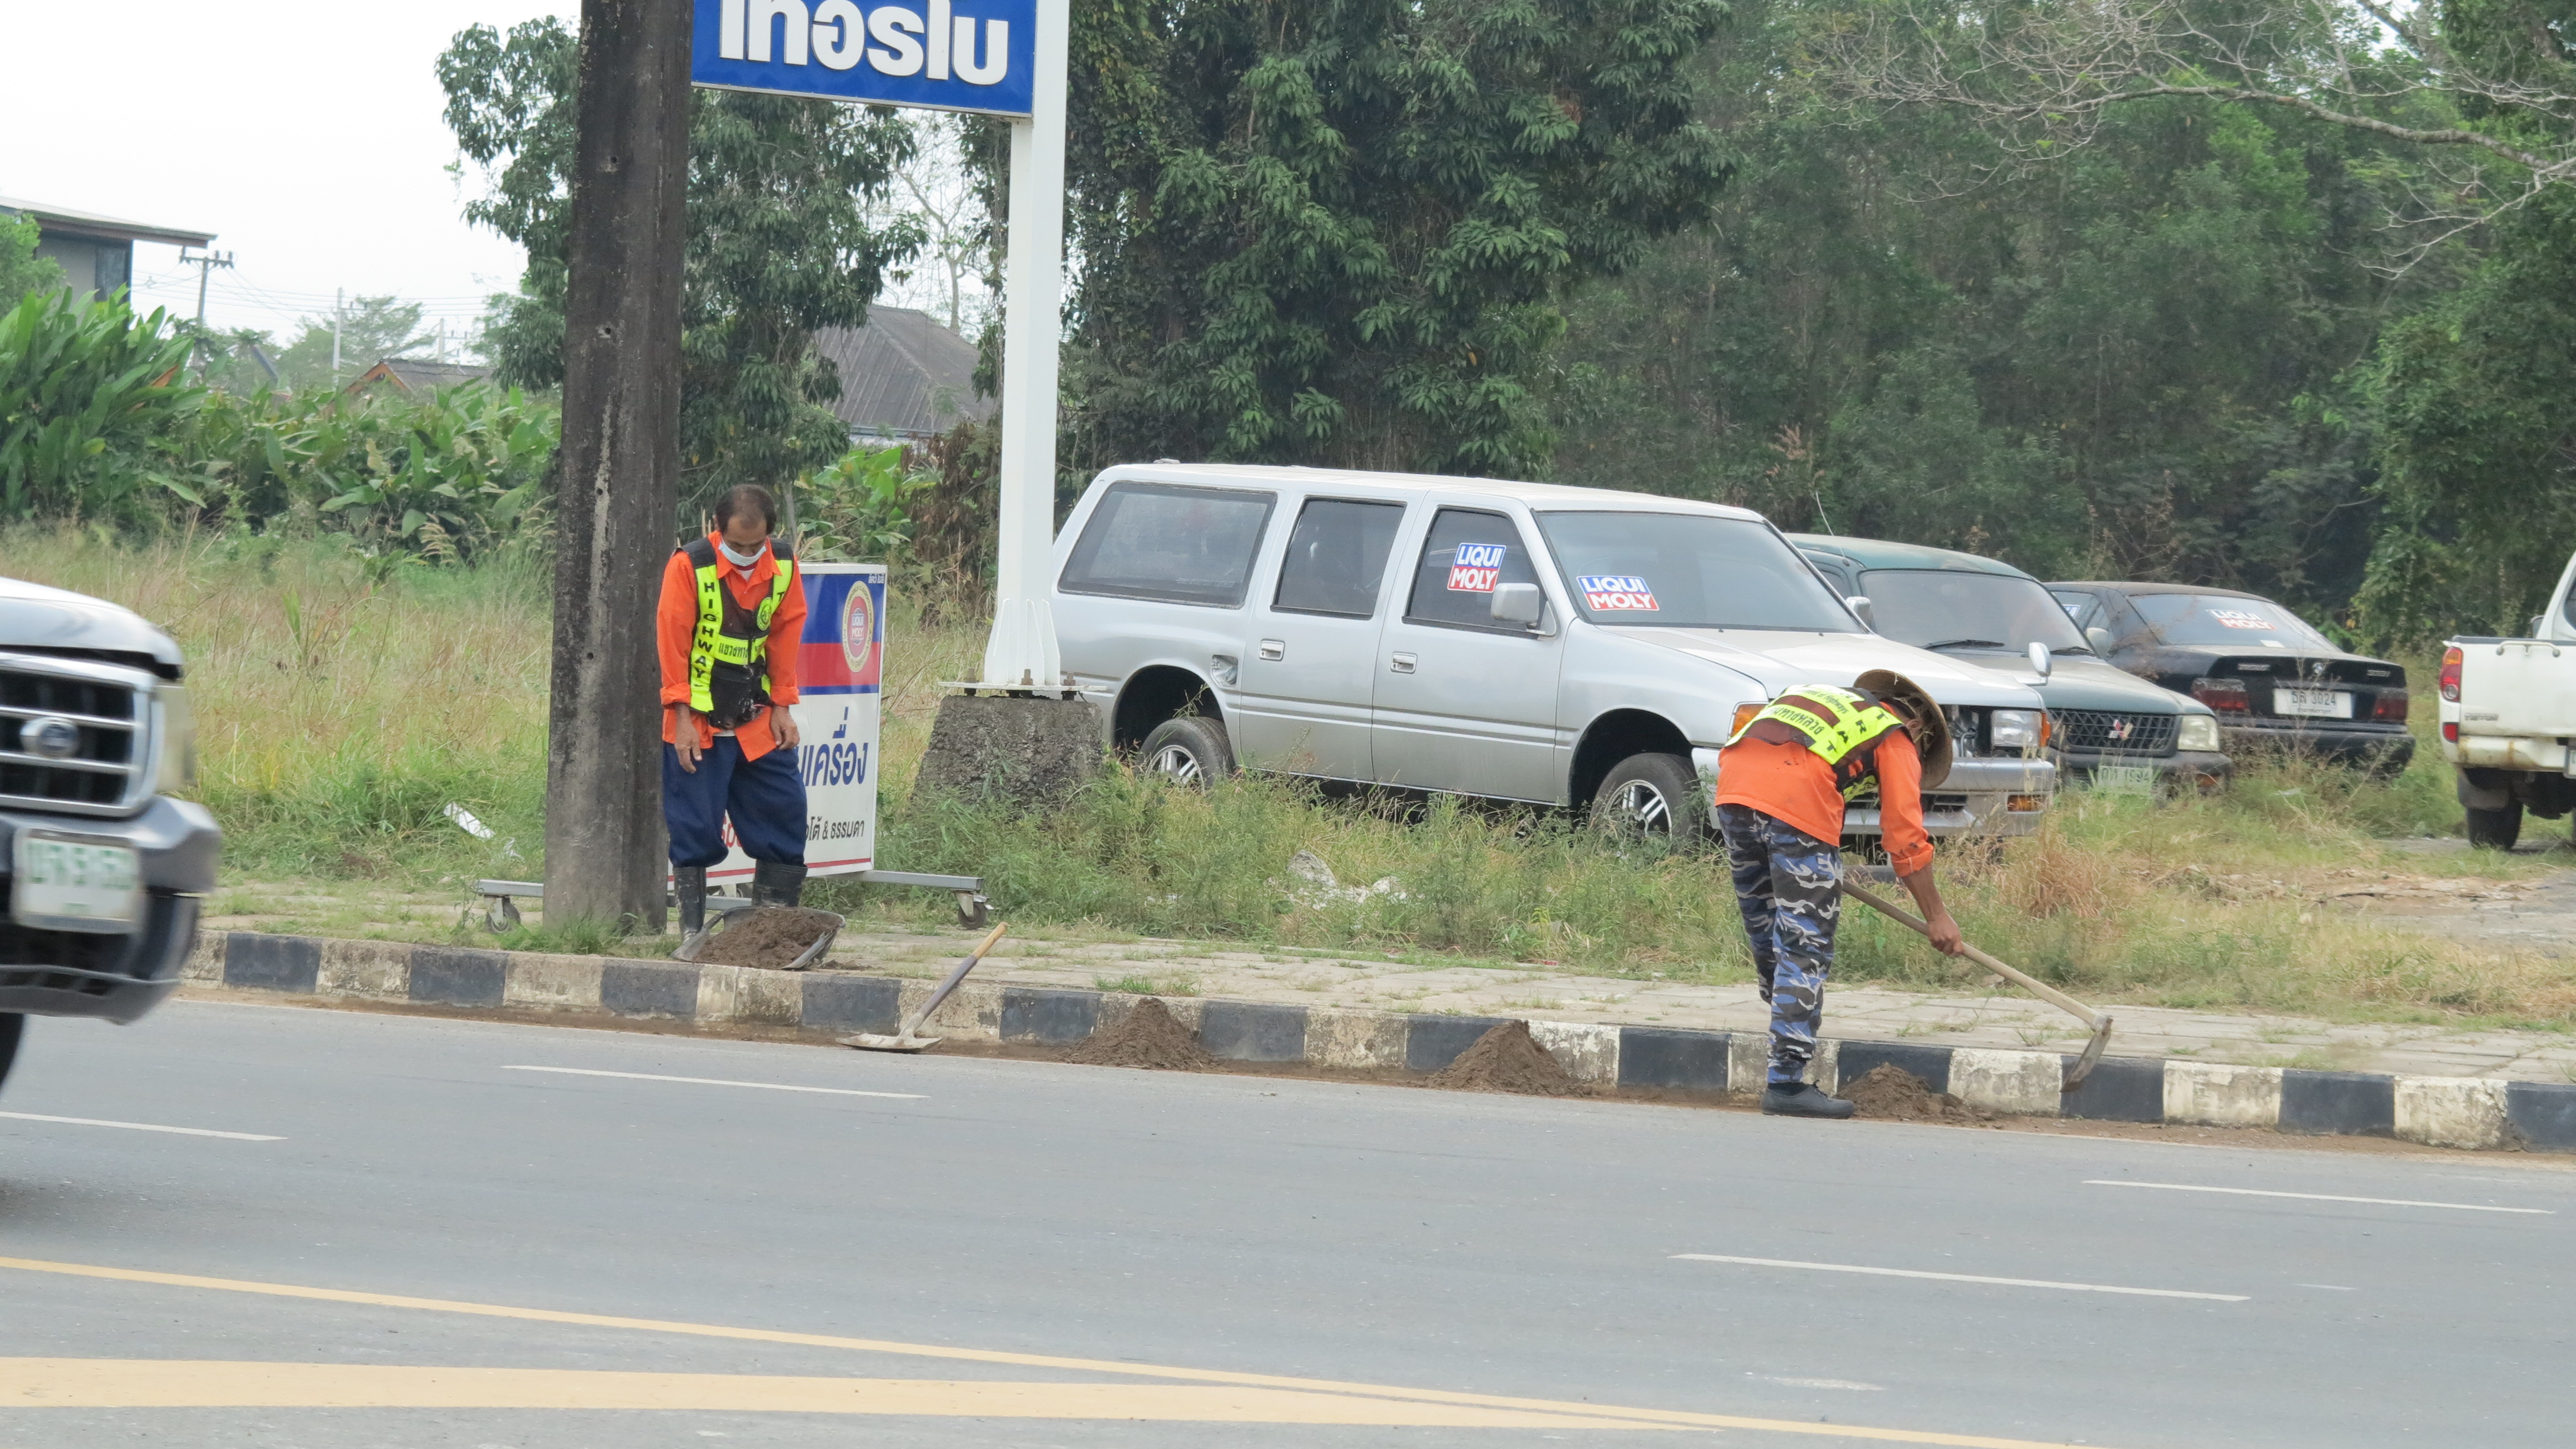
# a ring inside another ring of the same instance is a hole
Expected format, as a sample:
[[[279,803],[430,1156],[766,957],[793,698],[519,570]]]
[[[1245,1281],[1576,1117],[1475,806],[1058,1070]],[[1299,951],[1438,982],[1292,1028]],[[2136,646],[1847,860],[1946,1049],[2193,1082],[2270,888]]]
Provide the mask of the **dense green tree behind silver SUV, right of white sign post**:
[[[1546,467],[1561,294],[1705,217],[1723,0],[1074,10],[1074,467]],[[987,152],[989,155],[989,152]]]

